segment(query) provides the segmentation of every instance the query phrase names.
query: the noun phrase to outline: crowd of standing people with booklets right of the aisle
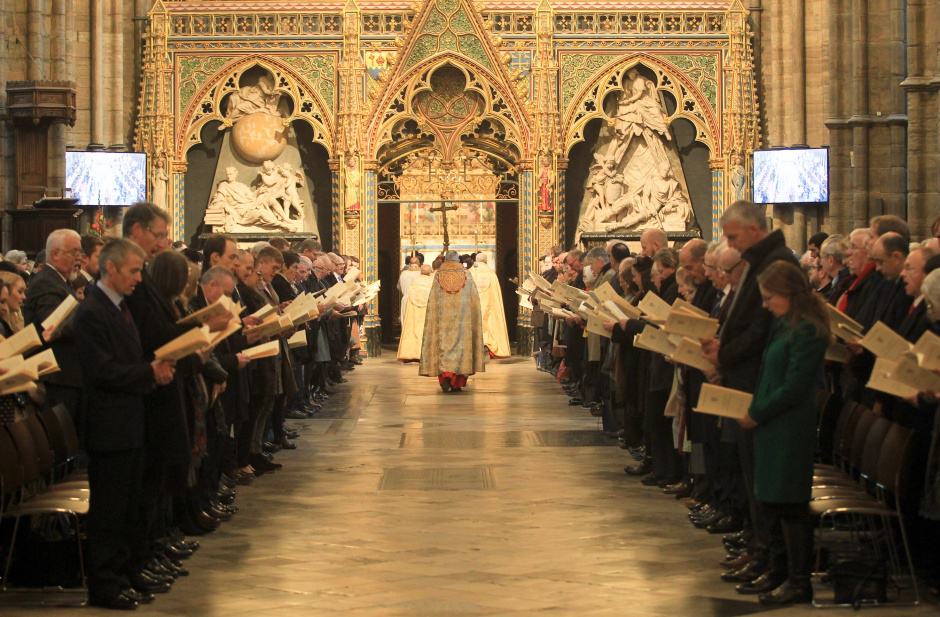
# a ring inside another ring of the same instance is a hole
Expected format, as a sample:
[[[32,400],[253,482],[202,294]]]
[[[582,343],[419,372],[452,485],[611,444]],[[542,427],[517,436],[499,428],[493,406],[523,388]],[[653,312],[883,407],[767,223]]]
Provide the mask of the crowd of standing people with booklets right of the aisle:
[[[635,344],[645,329],[662,325],[645,316],[608,320],[608,335],[599,336],[580,316],[536,304],[537,366],[555,375],[572,407],[588,409],[619,438],[635,459],[628,476],[684,500],[692,525],[721,534],[721,580],[767,605],[813,597],[820,513],[827,503],[867,498],[857,469],[820,465],[831,461],[833,439],[852,441],[833,430],[851,424],[845,418],[852,414],[870,418],[880,432],[859,434],[876,453],[891,436],[910,434],[901,468],[907,490],[890,498],[917,539],[918,575],[936,585],[940,392],[901,398],[866,387],[877,359],[859,339],[847,338],[845,357],[829,356],[832,309],[861,326],[859,337],[877,324],[911,345],[925,332],[940,333],[940,218],[932,230],[933,237],[912,242],[902,219],[878,216],[846,237],[816,234],[798,255],[780,230],[768,229],[762,208],[737,202],[711,243],[693,239],[677,250],[665,232],[649,229],[636,255],[618,240],[586,252],[556,248],[542,261],[548,283],[591,291],[609,282],[634,306],[647,294],[669,305],[680,298],[718,329],[699,341],[710,367],[701,370]],[[704,384],[752,395],[746,415],[697,412]],[[831,409],[842,416],[835,429]]]

